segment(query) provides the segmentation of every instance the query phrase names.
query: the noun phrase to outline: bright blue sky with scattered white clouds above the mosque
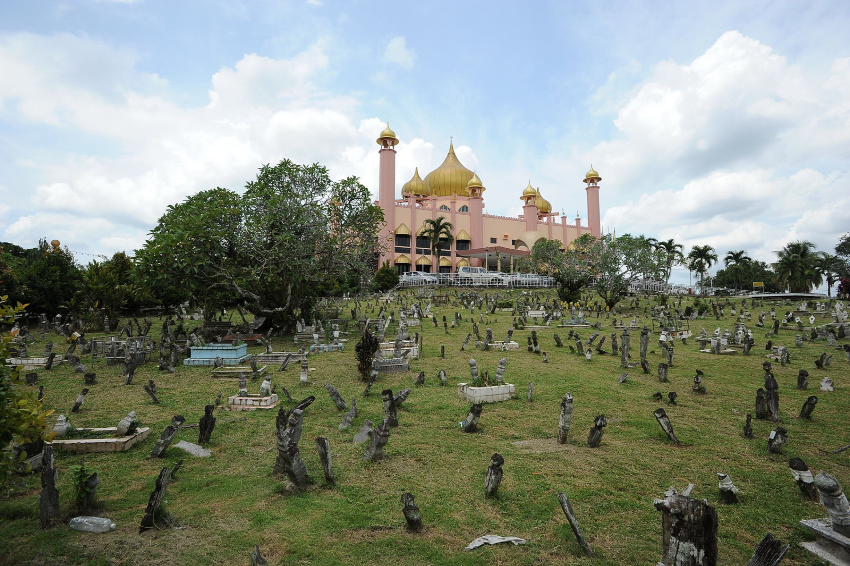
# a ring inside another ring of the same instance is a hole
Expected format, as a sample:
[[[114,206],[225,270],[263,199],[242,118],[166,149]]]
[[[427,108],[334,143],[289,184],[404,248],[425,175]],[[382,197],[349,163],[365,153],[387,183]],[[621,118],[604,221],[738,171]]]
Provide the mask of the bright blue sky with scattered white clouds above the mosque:
[[[132,253],[284,158],[377,197],[389,122],[399,189],[453,140],[490,214],[531,182],[586,224],[592,165],[605,232],[834,252],[848,29],[844,0],[0,2],[0,241]]]

